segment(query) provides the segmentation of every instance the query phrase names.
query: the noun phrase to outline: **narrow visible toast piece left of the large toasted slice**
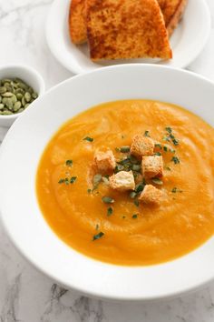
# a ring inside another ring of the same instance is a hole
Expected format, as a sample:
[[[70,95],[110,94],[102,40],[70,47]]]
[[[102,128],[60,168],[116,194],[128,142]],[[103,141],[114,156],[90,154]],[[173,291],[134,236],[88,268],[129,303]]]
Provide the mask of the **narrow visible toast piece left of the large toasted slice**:
[[[83,44],[86,41],[85,0],[72,0],[69,30],[73,44]]]

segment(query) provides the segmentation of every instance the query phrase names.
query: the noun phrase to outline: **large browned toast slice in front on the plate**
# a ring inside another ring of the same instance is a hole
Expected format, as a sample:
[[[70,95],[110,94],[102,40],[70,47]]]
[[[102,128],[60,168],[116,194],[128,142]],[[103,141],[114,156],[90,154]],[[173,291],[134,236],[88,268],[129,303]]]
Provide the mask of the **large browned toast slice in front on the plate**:
[[[87,0],[86,27],[93,61],[171,58],[157,0]]]

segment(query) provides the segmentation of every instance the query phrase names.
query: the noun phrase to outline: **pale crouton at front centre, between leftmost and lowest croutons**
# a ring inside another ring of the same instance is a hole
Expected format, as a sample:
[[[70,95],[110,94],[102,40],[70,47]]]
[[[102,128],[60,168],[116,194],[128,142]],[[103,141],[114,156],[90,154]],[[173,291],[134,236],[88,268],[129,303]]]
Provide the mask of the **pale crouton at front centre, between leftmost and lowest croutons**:
[[[134,190],[134,176],[132,171],[120,171],[116,175],[109,177],[110,187],[115,190],[125,191],[125,190]]]

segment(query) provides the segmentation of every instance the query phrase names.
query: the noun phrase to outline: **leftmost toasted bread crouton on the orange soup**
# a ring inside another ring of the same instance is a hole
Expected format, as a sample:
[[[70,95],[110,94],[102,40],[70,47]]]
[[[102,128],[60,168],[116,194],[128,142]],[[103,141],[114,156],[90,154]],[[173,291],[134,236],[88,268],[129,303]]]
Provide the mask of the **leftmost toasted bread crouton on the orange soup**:
[[[94,162],[98,170],[102,173],[111,172],[116,166],[116,161],[112,150],[108,150],[106,152],[96,152],[94,155]]]

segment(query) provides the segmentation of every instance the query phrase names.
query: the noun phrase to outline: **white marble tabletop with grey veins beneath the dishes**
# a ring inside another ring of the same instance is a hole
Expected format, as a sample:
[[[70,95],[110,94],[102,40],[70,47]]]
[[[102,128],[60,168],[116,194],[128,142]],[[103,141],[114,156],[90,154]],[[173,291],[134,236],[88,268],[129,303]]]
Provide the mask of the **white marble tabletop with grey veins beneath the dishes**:
[[[62,0],[63,1],[63,0]],[[209,42],[188,69],[214,81],[214,1]],[[49,88],[71,76],[51,55],[44,24],[52,0],[0,0],[0,65],[34,66]],[[108,303],[57,286],[31,267],[0,224],[1,322],[213,322],[214,282],[159,303]]]

